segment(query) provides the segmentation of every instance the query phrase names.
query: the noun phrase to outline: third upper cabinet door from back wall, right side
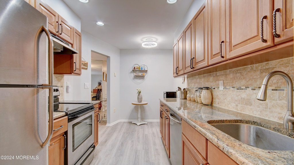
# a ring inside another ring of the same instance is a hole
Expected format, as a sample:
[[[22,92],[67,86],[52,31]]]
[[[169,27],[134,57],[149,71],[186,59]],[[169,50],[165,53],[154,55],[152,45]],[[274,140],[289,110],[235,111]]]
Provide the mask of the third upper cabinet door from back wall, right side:
[[[193,55],[193,35],[192,35],[192,21],[184,30],[184,73],[191,72],[193,70],[192,60],[195,60]]]

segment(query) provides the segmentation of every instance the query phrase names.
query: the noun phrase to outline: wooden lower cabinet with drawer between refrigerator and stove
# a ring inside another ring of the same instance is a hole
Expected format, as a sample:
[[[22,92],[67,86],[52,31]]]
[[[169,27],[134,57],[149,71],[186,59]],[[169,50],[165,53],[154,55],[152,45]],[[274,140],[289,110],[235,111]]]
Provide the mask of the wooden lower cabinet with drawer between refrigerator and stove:
[[[53,129],[58,130],[53,132],[48,145],[48,164],[63,165],[64,151],[66,148],[66,135],[64,132],[67,131],[67,116],[55,119]]]

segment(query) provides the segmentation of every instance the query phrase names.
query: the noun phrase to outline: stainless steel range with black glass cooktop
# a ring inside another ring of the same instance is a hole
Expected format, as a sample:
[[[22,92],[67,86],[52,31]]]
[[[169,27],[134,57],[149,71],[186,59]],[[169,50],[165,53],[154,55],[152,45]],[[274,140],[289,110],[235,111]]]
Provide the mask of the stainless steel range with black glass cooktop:
[[[94,106],[87,101],[61,101],[58,87],[54,89],[54,112],[68,116],[66,164],[88,165],[94,157]]]

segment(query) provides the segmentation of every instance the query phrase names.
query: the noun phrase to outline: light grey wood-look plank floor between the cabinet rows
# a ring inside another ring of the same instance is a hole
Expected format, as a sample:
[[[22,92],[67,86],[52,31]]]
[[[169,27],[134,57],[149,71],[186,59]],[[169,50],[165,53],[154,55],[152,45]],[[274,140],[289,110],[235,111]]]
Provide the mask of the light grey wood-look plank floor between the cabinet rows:
[[[171,165],[164,148],[159,122],[137,126],[99,123],[98,145],[90,165]]]

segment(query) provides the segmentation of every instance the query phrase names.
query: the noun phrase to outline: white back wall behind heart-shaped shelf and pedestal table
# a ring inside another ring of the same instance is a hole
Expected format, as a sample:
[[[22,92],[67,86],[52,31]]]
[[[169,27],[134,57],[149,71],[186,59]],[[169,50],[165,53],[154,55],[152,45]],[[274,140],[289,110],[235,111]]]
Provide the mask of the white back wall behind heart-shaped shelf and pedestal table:
[[[182,85],[182,79],[173,78],[173,50],[136,49],[121,50],[120,58],[120,119],[133,121],[138,119],[137,88],[141,88],[143,101],[148,105],[141,106],[143,120],[159,120],[159,98],[163,91],[176,91]],[[134,78],[133,64],[145,64],[147,74],[142,79]]]

